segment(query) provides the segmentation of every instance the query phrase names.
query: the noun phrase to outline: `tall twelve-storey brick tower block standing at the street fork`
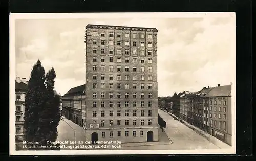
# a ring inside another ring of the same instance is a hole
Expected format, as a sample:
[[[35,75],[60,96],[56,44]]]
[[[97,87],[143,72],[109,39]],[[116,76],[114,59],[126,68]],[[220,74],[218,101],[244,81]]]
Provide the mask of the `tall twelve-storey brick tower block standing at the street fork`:
[[[86,26],[88,141],[158,141],[157,32]]]

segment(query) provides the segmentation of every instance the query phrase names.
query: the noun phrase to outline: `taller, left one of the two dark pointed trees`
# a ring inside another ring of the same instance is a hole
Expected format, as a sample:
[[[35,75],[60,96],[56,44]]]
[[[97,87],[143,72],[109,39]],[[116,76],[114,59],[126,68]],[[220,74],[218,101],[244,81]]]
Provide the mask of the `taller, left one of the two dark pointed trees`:
[[[26,141],[40,141],[39,113],[45,106],[45,69],[40,60],[33,66],[25,96],[24,129]],[[33,149],[37,150],[37,149]]]

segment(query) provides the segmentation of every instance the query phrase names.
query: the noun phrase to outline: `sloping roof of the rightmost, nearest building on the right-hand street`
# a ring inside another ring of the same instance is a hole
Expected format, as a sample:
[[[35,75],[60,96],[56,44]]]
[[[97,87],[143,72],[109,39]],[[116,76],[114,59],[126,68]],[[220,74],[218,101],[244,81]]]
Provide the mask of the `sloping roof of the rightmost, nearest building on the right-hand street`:
[[[213,87],[205,97],[231,96],[231,85]]]

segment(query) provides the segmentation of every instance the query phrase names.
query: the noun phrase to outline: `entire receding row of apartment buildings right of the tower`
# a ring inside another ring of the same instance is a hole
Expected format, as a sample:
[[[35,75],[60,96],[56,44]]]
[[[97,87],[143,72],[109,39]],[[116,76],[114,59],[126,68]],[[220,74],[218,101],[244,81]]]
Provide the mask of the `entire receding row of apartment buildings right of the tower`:
[[[231,145],[231,84],[185,91],[172,100],[173,114]]]

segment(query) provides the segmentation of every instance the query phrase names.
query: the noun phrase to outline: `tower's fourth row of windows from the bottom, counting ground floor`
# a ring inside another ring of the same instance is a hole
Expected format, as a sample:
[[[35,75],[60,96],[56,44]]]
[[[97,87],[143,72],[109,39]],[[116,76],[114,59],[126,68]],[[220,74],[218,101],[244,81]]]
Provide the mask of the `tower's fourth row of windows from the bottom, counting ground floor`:
[[[117,107],[121,107],[121,102],[117,101]],[[129,107],[129,101],[124,102],[125,107]],[[147,103],[148,107],[152,107],[152,101],[148,101]],[[97,107],[97,102],[93,101],[93,107]],[[100,107],[106,107],[105,106],[105,101],[101,101]],[[109,107],[113,107],[113,101],[109,101]],[[133,101],[133,107],[138,107],[137,101]],[[140,107],[145,107],[145,101],[140,101]]]

